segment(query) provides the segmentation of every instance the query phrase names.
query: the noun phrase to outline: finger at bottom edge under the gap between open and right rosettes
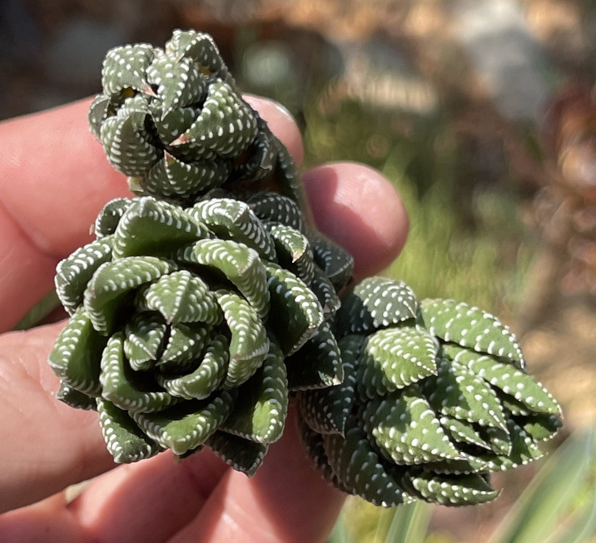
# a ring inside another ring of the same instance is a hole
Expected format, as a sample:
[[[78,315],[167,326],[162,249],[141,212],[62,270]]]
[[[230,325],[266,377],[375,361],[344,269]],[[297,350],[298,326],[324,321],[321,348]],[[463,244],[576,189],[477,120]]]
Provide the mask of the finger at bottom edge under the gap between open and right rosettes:
[[[293,409],[253,479],[228,471],[193,522],[170,543],[322,543],[345,496],[306,458]]]

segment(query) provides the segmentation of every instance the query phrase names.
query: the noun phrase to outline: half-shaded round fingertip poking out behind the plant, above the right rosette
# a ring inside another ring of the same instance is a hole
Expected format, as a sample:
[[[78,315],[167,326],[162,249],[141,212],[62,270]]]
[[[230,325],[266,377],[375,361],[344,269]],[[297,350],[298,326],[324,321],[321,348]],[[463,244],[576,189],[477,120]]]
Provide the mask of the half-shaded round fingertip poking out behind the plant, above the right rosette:
[[[303,176],[321,232],[355,258],[357,279],[386,268],[408,237],[408,215],[381,173],[353,162],[315,167]]]

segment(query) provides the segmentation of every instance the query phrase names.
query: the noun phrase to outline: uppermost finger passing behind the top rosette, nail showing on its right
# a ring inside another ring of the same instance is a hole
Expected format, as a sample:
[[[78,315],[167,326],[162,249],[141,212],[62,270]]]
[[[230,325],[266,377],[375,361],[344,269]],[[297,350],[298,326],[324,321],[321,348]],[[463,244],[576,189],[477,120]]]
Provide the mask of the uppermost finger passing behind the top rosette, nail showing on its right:
[[[299,131],[287,111],[248,98],[301,160]],[[10,228],[0,236],[0,331],[48,293],[55,263],[91,240],[89,226],[104,204],[130,196],[125,176],[89,132],[88,107],[82,100],[0,123],[0,227]]]

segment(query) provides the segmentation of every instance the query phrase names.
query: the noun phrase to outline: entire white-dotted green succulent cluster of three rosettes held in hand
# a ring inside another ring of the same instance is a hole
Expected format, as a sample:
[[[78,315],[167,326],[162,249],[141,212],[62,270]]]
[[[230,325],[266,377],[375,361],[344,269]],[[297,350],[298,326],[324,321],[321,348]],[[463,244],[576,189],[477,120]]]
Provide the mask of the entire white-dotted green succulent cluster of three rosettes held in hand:
[[[315,466],[375,504],[489,501],[491,471],[541,455],[560,408],[513,334],[402,281],[354,285],[210,36],[112,49],[102,82],[89,123],[138,194],[58,264],[49,363],[116,462],[209,446],[250,476],[293,396]]]

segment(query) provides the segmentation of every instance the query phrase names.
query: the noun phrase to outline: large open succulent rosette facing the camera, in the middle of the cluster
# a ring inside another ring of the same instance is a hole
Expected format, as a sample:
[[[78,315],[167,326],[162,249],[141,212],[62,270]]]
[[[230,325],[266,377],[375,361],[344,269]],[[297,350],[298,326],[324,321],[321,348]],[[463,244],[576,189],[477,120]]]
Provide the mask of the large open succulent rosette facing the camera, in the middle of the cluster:
[[[71,317],[49,363],[58,398],[98,410],[116,462],[207,445],[252,475],[288,392],[343,381],[328,320],[352,259],[290,198],[123,198],[95,235],[58,265]]]

